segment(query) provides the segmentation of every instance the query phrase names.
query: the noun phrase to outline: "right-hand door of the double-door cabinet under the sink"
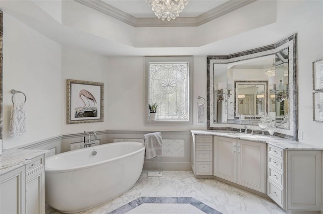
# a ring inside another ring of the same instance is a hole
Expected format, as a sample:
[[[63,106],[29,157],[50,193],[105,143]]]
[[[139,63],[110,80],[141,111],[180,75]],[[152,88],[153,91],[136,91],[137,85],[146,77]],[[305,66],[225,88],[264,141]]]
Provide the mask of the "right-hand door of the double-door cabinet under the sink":
[[[266,144],[238,140],[237,183],[265,193],[265,148]]]

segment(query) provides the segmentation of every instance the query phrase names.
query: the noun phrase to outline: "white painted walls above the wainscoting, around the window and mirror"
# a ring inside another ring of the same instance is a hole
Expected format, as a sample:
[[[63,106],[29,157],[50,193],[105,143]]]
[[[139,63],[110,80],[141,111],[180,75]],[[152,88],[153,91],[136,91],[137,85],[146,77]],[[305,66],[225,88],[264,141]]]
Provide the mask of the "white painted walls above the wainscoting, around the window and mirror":
[[[230,51],[239,52],[272,44],[297,32],[298,118],[299,129],[304,131],[304,139],[300,141],[322,146],[323,124],[312,121],[311,63],[323,58],[323,19],[321,16],[323,2],[277,1],[276,7],[276,23],[219,40],[216,44],[220,49],[225,45]],[[188,130],[205,128],[203,125],[196,124],[196,98],[202,96],[206,99],[205,53],[200,53],[201,56],[194,56],[194,98],[192,100],[194,104],[194,124],[183,126],[143,125],[143,56],[106,57],[67,47],[61,53],[60,45],[6,14],[4,22],[5,148],[26,144],[60,133],[81,132],[83,130]],[[160,49],[160,51],[163,50]],[[214,52],[214,55],[229,54],[218,53],[217,48],[213,48],[212,52]],[[60,73],[60,70],[62,73]],[[67,78],[104,83],[104,122],[66,124],[65,89]],[[15,138],[8,136],[11,106],[10,89],[12,88],[24,91],[27,94],[28,117],[37,118],[29,120],[26,135]],[[58,115],[61,115],[61,117]]]

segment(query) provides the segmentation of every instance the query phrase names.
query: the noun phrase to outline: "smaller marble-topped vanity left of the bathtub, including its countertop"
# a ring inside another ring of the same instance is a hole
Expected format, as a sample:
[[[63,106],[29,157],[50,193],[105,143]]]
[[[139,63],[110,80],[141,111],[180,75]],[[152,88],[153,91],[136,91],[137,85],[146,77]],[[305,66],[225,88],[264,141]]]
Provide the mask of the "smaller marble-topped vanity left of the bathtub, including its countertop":
[[[47,150],[4,150],[0,156],[0,213],[45,213]]]

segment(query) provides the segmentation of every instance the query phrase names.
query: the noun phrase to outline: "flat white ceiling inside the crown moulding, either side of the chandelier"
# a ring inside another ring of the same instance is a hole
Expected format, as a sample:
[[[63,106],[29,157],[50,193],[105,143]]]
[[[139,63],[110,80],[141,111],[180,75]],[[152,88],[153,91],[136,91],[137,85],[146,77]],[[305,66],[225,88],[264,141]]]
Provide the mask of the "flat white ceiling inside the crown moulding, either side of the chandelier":
[[[145,0],[101,0],[136,18],[154,18],[155,14]],[[229,0],[190,0],[180,17],[197,17]]]

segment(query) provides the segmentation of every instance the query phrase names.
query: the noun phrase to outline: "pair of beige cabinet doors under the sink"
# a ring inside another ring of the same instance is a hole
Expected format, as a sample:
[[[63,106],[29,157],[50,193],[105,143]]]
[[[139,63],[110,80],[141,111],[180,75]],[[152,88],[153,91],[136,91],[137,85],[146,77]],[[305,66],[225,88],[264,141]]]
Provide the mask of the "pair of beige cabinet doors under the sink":
[[[214,176],[265,193],[266,144],[214,136]]]

